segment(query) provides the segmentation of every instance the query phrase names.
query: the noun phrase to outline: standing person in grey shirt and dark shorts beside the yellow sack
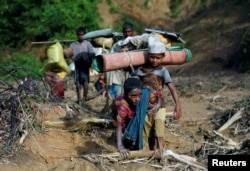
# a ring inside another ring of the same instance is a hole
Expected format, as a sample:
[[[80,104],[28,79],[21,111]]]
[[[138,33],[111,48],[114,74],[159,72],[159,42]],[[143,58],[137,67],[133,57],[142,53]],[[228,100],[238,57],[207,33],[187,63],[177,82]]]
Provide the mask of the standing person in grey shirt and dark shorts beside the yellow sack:
[[[91,67],[93,57],[95,56],[93,46],[87,40],[83,39],[86,34],[85,27],[79,27],[76,30],[78,40],[70,44],[73,49],[73,61],[75,63],[75,85],[77,93],[77,103],[79,105],[85,104],[88,96],[89,89],[89,68]],[[83,93],[81,98],[81,90]]]

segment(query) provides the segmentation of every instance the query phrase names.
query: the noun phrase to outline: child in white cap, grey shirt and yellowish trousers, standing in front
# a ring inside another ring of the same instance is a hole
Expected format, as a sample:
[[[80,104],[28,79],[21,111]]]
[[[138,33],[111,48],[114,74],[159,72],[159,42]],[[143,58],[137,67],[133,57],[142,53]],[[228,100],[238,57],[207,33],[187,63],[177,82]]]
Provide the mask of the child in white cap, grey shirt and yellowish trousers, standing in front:
[[[150,88],[148,99],[148,111],[144,123],[144,136],[148,138],[150,150],[164,147],[164,85],[168,87],[175,102],[174,116],[179,119],[182,116],[181,105],[176,88],[171,80],[169,71],[162,66],[166,47],[161,42],[149,43],[148,62],[137,68],[132,75],[139,76],[143,86]],[[147,100],[147,99],[143,99]]]

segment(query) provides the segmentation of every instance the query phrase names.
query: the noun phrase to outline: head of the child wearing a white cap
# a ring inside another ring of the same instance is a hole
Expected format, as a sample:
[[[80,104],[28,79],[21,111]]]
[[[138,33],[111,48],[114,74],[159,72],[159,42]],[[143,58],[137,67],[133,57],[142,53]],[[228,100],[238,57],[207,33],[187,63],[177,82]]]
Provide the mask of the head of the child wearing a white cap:
[[[158,67],[161,65],[162,60],[165,56],[166,46],[161,42],[155,42],[149,44],[148,57],[149,63],[152,67]]]

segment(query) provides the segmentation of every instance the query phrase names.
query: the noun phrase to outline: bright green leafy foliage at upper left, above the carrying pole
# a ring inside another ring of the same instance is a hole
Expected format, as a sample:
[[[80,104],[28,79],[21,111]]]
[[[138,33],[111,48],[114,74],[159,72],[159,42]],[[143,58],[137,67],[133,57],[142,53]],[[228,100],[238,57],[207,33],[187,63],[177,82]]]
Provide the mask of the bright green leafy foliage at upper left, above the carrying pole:
[[[31,41],[74,39],[75,29],[98,29],[100,0],[2,0],[0,46],[21,47]]]

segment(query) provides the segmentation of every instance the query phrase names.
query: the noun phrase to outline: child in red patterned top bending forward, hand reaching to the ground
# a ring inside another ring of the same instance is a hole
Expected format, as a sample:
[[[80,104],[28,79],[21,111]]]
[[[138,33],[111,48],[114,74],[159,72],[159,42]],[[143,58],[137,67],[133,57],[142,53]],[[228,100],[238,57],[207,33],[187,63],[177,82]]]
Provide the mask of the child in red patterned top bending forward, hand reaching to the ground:
[[[124,94],[117,97],[112,105],[112,117],[116,122],[116,143],[118,151],[124,158],[130,150],[137,150],[136,144],[124,138],[129,122],[136,115],[136,106],[141,100],[142,82],[138,78],[128,78],[125,80]]]

